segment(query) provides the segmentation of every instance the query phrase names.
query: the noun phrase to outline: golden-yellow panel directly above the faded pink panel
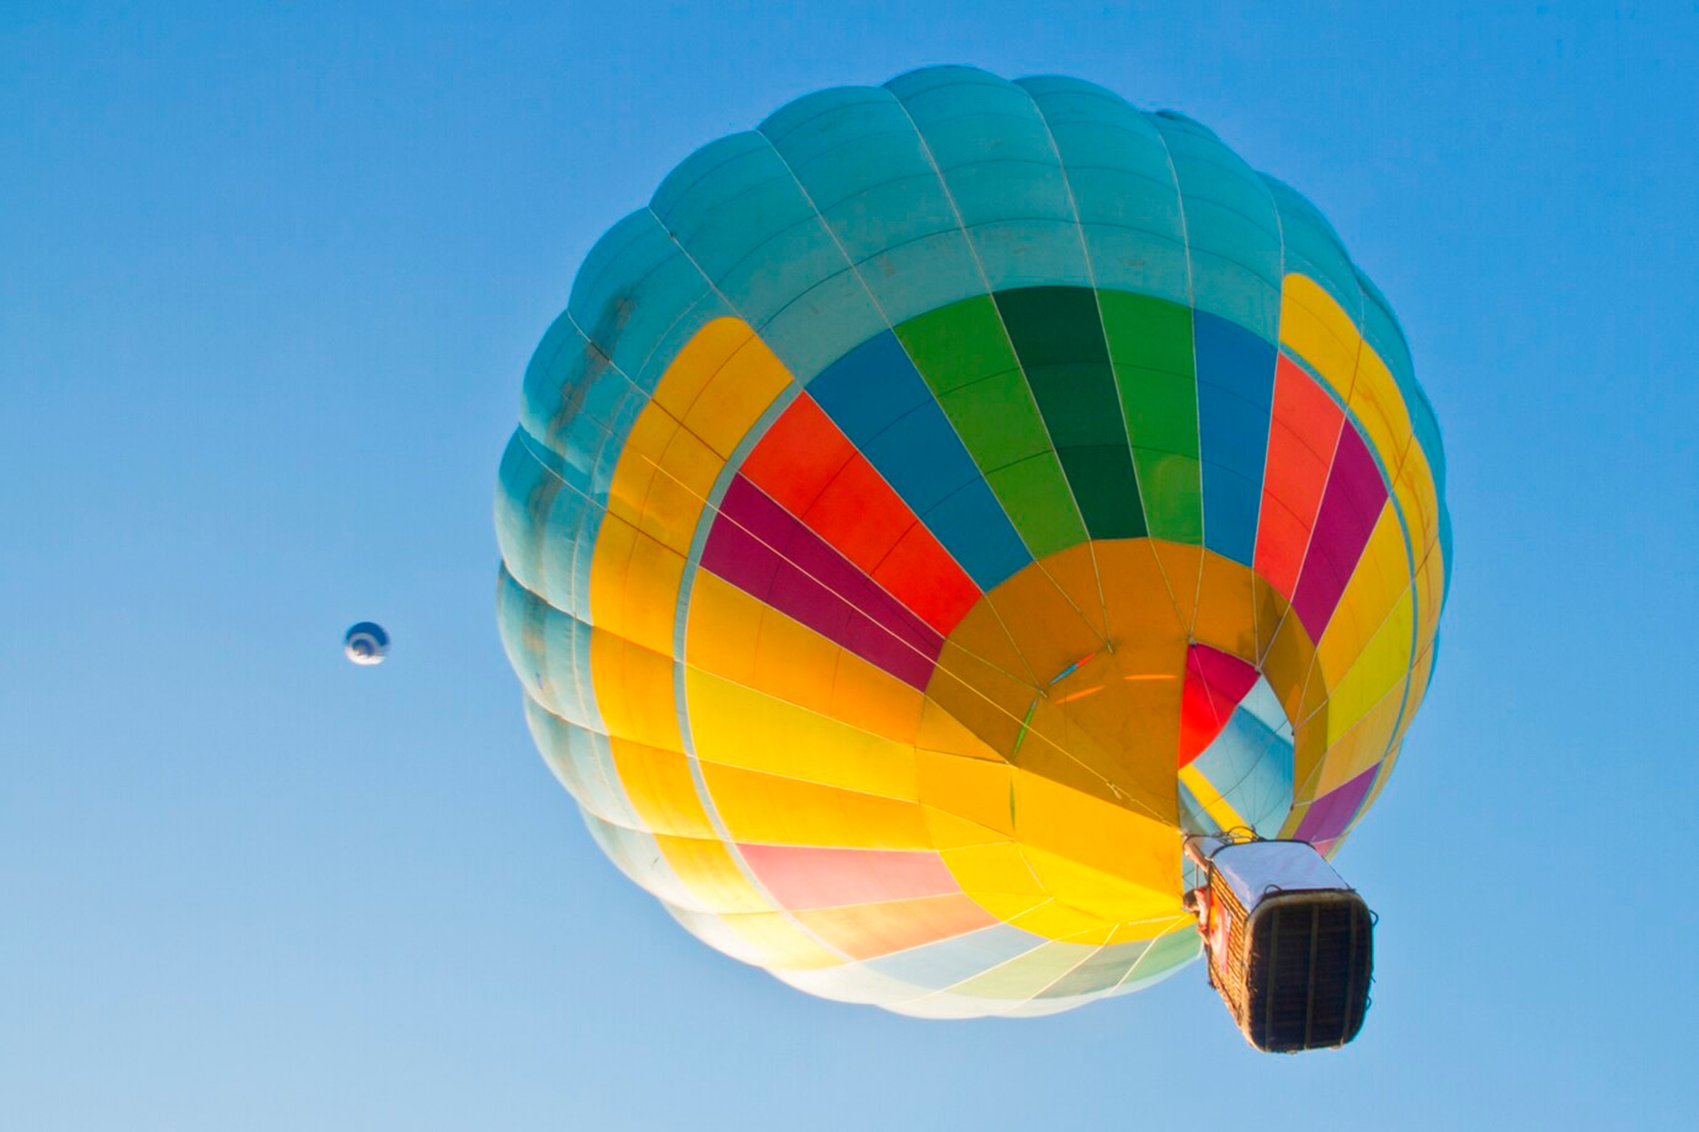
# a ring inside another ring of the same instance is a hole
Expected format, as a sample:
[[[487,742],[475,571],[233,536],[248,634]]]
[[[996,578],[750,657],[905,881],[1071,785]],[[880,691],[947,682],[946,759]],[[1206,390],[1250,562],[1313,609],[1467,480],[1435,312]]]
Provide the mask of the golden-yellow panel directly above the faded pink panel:
[[[734,840],[843,849],[931,849],[921,806],[799,779],[702,764]]]

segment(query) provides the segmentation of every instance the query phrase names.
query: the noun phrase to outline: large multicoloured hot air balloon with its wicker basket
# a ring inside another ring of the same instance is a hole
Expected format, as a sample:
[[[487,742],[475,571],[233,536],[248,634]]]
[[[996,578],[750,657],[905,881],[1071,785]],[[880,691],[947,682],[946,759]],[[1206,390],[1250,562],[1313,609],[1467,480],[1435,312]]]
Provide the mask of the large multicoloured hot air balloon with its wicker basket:
[[[940,66],[702,148],[591,249],[498,621],[596,843],[712,947],[967,1018],[1205,950],[1232,1006],[1303,939],[1330,1022],[1235,1006],[1301,1049],[1361,1025],[1329,859],[1432,675],[1442,497],[1313,205],[1181,114]],[[1274,933],[1269,884],[1313,896]]]

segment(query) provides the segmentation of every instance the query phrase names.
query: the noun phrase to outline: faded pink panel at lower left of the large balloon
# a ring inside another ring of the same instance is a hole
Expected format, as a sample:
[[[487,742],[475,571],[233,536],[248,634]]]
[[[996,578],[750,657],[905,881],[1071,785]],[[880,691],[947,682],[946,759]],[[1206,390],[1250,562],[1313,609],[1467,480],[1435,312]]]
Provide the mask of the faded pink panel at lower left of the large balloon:
[[[744,860],[785,908],[838,908],[948,896],[962,886],[936,852],[739,845]]]

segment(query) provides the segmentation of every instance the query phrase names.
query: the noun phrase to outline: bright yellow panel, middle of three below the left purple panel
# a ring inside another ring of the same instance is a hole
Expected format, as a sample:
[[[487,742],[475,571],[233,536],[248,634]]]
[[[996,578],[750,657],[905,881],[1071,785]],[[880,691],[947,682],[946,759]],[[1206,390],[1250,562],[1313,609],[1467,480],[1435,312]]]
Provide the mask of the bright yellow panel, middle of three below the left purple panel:
[[[690,733],[703,762],[916,799],[914,747],[690,669]]]

